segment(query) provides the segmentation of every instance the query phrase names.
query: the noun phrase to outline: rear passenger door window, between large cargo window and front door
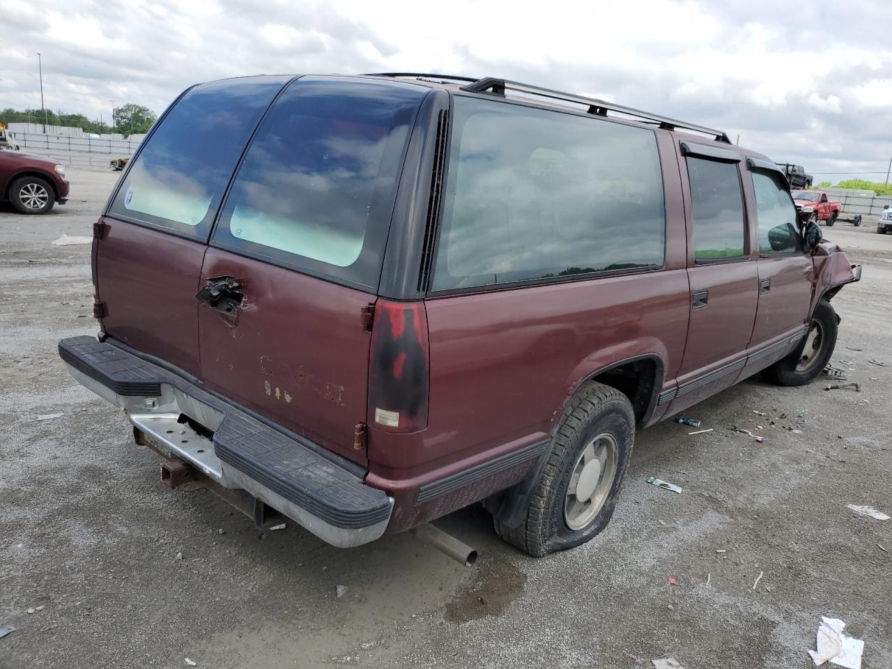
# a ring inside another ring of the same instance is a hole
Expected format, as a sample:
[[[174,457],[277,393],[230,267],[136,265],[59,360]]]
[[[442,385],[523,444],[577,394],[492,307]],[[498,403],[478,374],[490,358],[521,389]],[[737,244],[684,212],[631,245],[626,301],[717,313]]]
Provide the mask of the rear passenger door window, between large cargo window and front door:
[[[688,158],[694,219],[694,257],[721,260],[743,256],[743,194],[737,163]]]

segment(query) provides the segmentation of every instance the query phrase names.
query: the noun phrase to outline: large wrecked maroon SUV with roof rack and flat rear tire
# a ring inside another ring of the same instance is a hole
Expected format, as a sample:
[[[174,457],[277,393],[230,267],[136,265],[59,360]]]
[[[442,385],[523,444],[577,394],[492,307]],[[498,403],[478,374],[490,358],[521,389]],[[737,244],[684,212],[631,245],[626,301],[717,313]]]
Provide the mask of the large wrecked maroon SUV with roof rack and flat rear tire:
[[[342,547],[478,500],[589,540],[636,429],[814,379],[861,275],[724,133],[495,78],[192,87],[94,233],[71,374],[170,487]]]

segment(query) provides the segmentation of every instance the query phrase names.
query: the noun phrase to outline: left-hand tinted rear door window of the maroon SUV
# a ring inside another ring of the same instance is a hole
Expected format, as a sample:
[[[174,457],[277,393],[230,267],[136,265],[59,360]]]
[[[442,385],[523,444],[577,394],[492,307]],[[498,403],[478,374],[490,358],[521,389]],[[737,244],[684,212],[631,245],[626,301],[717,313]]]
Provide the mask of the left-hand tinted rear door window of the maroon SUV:
[[[248,137],[285,81],[237,78],[189,90],[136,157],[110,213],[206,238]]]

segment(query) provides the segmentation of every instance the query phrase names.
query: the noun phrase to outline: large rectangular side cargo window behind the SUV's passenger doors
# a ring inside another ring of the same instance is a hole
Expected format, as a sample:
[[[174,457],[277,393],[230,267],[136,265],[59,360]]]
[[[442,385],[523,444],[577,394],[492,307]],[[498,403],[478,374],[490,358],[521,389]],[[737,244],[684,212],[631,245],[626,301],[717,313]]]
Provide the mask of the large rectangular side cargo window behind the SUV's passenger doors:
[[[654,133],[454,100],[435,290],[663,264]]]

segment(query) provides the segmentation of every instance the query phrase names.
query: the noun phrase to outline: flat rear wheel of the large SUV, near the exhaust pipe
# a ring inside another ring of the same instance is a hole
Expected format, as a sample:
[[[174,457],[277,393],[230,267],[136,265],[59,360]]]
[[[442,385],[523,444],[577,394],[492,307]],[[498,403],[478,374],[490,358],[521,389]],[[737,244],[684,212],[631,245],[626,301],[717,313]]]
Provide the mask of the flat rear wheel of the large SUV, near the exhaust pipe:
[[[588,385],[564,413],[523,522],[496,519],[496,533],[533,558],[589,541],[613,516],[634,440],[629,399]]]

